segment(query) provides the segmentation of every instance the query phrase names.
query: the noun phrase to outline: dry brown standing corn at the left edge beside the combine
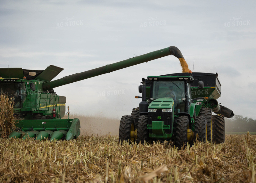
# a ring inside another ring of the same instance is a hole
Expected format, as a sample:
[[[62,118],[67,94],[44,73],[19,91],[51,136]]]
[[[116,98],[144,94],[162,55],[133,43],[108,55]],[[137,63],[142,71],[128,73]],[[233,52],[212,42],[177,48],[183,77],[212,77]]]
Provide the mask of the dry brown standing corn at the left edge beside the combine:
[[[0,138],[7,138],[15,127],[13,99],[0,93]]]

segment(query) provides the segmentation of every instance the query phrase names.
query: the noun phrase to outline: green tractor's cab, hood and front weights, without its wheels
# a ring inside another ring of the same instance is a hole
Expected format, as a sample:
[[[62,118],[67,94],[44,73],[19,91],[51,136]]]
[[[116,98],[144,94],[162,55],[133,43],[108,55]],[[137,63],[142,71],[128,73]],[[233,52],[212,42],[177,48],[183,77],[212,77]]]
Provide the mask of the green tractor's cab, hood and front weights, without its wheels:
[[[194,111],[190,111],[191,81],[191,76],[147,77],[147,87],[150,88],[147,129],[151,138],[170,138],[178,116],[193,117]]]

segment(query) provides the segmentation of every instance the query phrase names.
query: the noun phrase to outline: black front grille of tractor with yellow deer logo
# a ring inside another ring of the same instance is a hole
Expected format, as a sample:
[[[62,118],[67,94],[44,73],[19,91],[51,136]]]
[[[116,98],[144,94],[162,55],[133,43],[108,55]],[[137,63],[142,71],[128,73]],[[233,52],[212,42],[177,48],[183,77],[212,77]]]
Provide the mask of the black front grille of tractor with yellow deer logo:
[[[158,119],[158,116],[161,116],[161,119]],[[172,113],[163,113],[162,109],[157,109],[156,112],[148,112],[148,124],[152,124],[152,121],[164,121],[164,124],[169,124],[171,129],[165,130],[166,134],[172,133],[173,131],[173,122],[172,122]],[[149,133],[152,133],[152,130],[149,130]]]

